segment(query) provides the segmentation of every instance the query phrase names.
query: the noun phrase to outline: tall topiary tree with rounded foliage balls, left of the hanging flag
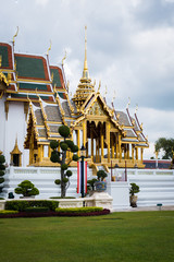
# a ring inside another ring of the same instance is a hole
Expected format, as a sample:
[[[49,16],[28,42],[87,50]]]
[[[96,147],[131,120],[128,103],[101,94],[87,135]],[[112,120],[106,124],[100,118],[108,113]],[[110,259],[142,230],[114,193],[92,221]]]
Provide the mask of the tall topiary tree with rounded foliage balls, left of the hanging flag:
[[[66,190],[70,186],[70,177],[73,175],[71,170],[67,170],[70,167],[70,163],[72,160],[77,162],[78,156],[78,146],[74,144],[70,136],[70,128],[67,126],[61,126],[59,128],[59,133],[63,138],[63,141],[51,141],[50,147],[52,148],[50,160],[53,163],[60,163],[61,165],[61,179],[55,179],[54,183],[61,186],[61,198],[64,198],[66,194]],[[59,151],[58,148],[61,148]],[[67,152],[73,153],[73,157],[67,159]]]

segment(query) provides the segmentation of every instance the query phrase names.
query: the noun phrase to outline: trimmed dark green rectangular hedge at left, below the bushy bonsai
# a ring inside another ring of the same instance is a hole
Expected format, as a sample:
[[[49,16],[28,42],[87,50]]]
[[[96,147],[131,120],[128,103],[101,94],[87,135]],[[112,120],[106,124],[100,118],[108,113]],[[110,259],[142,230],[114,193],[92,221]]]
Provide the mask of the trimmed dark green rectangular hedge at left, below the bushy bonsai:
[[[5,210],[25,211],[32,206],[44,206],[54,211],[58,205],[59,202],[53,200],[11,200],[5,202]]]

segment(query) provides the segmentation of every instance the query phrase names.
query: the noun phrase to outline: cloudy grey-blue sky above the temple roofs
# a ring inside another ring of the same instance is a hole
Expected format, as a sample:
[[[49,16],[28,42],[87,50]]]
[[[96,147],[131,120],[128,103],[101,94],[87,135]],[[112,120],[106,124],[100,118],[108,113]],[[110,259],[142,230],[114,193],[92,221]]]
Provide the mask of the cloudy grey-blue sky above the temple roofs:
[[[65,60],[74,93],[82,76],[87,25],[88,68],[101,94],[108,86],[116,109],[130,97],[138,104],[153,156],[160,136],[174,138],[174,0],[0,0],[0,41],[15,40],[16,52],[45,55],[52,41],[50,62]]]

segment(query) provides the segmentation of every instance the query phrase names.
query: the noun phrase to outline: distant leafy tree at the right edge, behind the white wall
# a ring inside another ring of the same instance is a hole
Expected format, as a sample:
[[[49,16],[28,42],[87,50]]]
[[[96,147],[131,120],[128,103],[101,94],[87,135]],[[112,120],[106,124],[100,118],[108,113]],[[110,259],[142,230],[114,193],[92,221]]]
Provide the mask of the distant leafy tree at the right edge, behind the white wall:
[[[160,138],[154,144],[156,152],[164,152],[162,159],[172,159],[174,151],[174,139]]]

